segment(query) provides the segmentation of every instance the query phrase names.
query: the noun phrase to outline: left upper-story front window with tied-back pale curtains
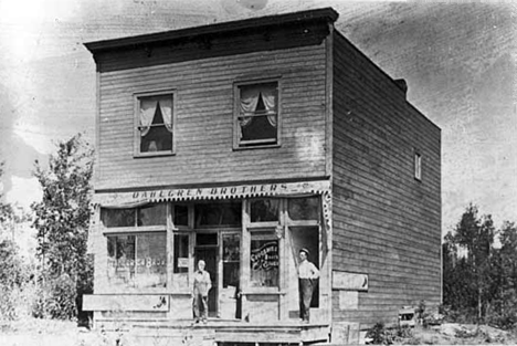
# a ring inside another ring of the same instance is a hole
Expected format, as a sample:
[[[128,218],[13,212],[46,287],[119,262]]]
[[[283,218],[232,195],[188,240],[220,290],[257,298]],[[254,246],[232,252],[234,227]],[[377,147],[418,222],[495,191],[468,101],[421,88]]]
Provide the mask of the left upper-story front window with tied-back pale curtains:
[[[173,93],[136,95],[135,155],[154,156],[173,153]]]

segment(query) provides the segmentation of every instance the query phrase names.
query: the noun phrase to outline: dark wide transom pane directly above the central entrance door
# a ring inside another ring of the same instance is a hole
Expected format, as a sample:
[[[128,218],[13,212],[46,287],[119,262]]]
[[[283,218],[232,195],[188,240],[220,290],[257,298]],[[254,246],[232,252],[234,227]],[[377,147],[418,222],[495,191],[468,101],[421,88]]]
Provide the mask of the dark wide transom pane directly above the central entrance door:
[[[196,205],[196,226],[241,226],[241,201]]]

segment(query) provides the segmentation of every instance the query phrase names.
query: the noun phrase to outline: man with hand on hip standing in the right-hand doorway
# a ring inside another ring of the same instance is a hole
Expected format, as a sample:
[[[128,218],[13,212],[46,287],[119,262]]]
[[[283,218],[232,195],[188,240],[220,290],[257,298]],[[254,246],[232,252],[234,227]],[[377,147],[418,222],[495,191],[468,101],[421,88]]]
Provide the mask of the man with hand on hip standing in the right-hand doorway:
[[[310,301],[313,300],[313,292],[319,277],[319,271],[307,259],[309,251],[307,249],[299,250],[299,265],[298,265],[298,291],[299,291],[299,317],[308,323]]]

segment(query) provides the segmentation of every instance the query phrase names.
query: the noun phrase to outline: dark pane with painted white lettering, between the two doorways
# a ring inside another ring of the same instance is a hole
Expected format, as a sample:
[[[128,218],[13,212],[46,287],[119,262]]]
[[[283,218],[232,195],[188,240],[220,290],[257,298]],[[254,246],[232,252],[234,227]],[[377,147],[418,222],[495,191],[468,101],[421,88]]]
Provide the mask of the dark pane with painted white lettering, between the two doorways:
[[[251,285],[278,286],[278,240],[251,240]]]

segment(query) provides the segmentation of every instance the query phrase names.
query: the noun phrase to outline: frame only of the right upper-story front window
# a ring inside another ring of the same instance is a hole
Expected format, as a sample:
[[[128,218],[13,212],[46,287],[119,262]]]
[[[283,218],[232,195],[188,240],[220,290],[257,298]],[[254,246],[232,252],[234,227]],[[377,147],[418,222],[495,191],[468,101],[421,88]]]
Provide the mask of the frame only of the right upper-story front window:
[[[263,143],[252,143],[247,141],[251,145],[242,145],[239,138],[239,117],[241,115],[241,86],[246,85],[260,85],[260,84],[268,84],[268,83],[276,83],[276,141],[268,143],[264,140]],[[233,84],[233,149],[234,150],[245,150],[245,149],[256,149],[256,148],[276,148],[282,145],[282,80],[281,76],[267,77],[267,78],[260,78],[260,80],[246,80],[246,81],[238,81]]]

